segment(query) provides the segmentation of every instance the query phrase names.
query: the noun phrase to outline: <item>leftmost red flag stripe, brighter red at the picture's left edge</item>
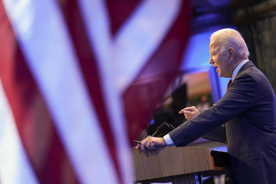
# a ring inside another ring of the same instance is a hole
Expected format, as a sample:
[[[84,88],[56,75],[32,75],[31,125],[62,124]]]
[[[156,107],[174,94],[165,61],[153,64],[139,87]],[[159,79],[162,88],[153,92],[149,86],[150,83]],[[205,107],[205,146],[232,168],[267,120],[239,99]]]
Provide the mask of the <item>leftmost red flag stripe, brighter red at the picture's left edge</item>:
[[[2,1],[0,12],[0,77],[37,178],[41,184],[78,183],[43,98],[26,65]]]

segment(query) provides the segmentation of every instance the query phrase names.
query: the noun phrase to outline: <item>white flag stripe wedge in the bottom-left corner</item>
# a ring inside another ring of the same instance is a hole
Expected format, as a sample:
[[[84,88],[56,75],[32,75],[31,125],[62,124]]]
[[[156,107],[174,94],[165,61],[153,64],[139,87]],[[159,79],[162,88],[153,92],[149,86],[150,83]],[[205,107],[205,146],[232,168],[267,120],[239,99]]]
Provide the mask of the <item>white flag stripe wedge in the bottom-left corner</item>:
[[[0,183],[39,184],[0,80]]]

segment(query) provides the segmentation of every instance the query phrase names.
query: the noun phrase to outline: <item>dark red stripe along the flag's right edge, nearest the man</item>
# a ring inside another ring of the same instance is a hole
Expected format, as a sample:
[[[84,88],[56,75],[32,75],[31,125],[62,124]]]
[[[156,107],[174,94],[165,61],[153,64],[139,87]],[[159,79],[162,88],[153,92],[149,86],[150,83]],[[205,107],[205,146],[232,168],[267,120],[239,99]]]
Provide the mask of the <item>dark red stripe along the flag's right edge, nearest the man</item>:
[[[189,36],[188,12],[188,1],[184,0],[175,24],[123,95],[131,144],[146,128],[147,120],[178,71]],[[146,82],[148,79],[151,82]]]

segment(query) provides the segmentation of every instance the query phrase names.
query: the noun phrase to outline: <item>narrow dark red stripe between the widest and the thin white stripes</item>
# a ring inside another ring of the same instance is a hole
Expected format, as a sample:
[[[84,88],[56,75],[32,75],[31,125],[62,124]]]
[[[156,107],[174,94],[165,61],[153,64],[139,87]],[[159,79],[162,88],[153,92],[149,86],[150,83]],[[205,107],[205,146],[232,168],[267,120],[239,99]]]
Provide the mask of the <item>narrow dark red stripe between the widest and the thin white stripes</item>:
[[[93,100],[93,104],[95,106],[97,116],[99,118],[101,127],[105,134],[106,142],[110,151],[110,156],[116,168],[118,180],[120,183],[123,183],[122,174],[121,174],[118,159],[117,159],[115,143],[112,137],[112,132],[109,125],[109,119],[106,113],[106,107],[104,105],[104,99],[102,96],[103,93],[100,85],[98,66],[95,61],[93,51],[89,44],[89,40],[85,31],[85,26],[83,24],[81,13],[78,9],[77,1],[60,0],[59,2],[65,17],[65,20],[67,22],[69,32],[72,37],[72,41],[74,43],[76,54],[77,54],[81,69],[83,71],[83,75],[89,90],[89,94]]]

